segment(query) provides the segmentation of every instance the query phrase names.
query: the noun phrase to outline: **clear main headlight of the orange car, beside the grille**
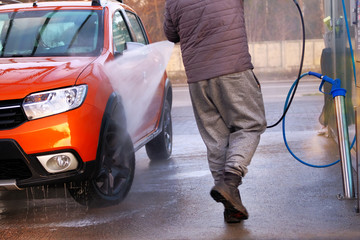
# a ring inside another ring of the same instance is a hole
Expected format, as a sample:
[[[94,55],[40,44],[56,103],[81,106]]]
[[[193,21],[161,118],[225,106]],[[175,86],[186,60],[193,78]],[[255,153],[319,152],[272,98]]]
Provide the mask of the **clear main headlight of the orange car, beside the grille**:
[[[23,102],[29,120],[42,118],[79,107],[85,99],[86,85],[34,93]]]

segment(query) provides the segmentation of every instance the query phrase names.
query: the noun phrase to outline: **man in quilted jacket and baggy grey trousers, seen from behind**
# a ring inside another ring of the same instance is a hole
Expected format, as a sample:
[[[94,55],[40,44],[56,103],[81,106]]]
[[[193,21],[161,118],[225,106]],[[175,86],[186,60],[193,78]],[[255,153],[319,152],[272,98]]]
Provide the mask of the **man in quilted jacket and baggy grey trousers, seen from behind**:
[[[180,42],[194,115],[228,223],[248,218],[238,186],[266,129],[243,0],[166,0],[164,31]]]

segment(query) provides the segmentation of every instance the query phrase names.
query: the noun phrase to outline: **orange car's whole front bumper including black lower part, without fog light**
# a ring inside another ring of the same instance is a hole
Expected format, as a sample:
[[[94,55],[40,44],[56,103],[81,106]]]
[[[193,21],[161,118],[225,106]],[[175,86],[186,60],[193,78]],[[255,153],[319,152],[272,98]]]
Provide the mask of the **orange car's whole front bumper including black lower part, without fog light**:
[[[103,112],[89,104],[0,131],[0,189],[76,181],[94,177]],[[71,153],[73,170],[50,173],[40,156]]]

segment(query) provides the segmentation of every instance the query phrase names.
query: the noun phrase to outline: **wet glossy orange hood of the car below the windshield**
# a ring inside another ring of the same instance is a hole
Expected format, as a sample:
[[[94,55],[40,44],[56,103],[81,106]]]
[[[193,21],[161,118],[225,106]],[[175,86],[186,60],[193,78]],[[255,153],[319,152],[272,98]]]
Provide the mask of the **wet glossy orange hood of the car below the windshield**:
[[[72,86],[96,57],[0,59],[0,100]]]

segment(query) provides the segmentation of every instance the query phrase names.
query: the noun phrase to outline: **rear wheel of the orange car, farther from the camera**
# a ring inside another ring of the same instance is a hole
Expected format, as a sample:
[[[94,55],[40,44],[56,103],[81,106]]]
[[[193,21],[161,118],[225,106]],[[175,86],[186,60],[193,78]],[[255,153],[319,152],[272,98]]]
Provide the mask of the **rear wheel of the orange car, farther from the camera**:
[[[165,100],[164,117],[162,121],[162,130],[160,134],[145,146],[146,153],[151,161],[167,160],[172,153],[171,106],[168,100]]]

